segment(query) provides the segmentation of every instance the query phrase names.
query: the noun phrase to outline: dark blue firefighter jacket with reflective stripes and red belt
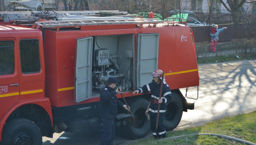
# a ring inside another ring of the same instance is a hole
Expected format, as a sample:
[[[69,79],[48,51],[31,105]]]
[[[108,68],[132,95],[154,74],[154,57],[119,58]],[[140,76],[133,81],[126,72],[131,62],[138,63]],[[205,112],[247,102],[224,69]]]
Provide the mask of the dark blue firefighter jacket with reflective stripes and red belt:
[[[158,102],[160,88],[161,82],[157,85],[154,81],[152,81],[151,83],[144,85],[141,88],[138,88],[137,90],[139,91],[139,93],[143,94],[151,92],[151,100],[156,100]],[[165,81],[163,84],[161,99],[163,100],[163,102],[160,105],[159,113],[164,114],[166,112],[166,103],[169,103],[172,100],[172,93],[170,87],[165,83]],[[148,110],[150,115],[157,115],[158,104],[150,103]]]

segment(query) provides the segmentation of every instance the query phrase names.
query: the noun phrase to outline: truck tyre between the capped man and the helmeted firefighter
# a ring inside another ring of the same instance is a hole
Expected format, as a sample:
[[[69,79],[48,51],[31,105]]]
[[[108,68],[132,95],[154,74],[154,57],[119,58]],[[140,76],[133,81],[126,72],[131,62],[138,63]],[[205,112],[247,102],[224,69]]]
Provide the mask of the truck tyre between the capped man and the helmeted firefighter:
[[[145,115],[148,104],[149,101],[141,97],[134,98],[129,103],[131,111],[136,119],[135,123],[133,123],[133,118],[130,118],[127,125],[121,130],[125,137],[139,139],[144,138],[147,135],[150,130],[150,120],[148,120]]]

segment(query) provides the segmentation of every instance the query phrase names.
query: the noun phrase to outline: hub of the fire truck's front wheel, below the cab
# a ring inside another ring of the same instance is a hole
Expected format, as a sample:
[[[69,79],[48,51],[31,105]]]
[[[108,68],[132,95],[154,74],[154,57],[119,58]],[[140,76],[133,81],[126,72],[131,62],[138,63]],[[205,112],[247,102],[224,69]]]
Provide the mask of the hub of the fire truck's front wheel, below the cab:
[[[21,132],[14,137],[12,145],[32,145],[32,140],[28,133]]]

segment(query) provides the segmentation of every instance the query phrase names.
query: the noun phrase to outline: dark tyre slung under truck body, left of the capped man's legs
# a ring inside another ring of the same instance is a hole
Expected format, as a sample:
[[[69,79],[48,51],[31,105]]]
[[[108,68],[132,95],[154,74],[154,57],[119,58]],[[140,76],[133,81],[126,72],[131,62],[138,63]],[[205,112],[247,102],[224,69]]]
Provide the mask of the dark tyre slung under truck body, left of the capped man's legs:
[[[99,128],[98,118],[91,118],[91,119],[74,119],[68,120],[65,123],[70,130],[67,132],[91,132],[97,131]]]

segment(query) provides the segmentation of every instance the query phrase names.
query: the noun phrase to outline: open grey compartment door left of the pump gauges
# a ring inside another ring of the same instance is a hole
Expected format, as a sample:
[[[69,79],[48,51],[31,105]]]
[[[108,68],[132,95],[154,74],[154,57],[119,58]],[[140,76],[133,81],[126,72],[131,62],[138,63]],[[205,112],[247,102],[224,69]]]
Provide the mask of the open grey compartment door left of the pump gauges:
[[[76,39],[75,103],[92,97],[92,37]]]

